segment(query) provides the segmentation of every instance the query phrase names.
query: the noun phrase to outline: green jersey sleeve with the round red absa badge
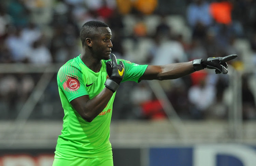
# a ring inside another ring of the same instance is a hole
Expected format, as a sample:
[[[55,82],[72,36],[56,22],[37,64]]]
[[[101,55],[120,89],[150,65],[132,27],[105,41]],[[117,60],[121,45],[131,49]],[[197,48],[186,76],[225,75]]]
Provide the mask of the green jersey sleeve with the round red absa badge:
[[[69,102],[77,97],[88,95],[83,84],[82,73],[75,66],[63,65],[57,74],[57,83]]]

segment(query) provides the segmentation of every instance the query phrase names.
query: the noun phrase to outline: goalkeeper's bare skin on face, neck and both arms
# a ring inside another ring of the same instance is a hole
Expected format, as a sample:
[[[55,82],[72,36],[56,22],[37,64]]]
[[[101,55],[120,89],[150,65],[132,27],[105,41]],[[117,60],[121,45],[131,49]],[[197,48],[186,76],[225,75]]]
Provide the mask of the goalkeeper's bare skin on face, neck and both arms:
[[[93,37],[86,38],[81,59],[94,72],[100,71],[102,59],[110,58],[111,48],[113,47],[111,35],[109,27],[100,27],[97,28],[97,33]],[[176,79],[193,72],[195,71],[192,61],[159,66],[148,65],[140,80]],[[104,88],[93,99],[89,99],[89,95],[84,95],[72,100],[70,104],[85,121],[91,122],[105,108],[112,95],[111,90]]]

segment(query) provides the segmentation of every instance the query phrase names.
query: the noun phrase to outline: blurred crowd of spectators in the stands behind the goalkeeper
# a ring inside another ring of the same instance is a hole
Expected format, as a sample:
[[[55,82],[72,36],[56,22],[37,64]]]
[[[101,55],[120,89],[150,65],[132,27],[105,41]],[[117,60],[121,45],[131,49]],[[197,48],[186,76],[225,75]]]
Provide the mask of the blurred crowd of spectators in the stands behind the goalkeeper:
[[[100,20],[112,30],[117,58],[163,65],[237,54],[230,66],[243,71],[256,65],[255,16],[254,0],[6,0],[0,5],[0,63],[63,64],[81,52],[82,25]],[[40,76],[0,73],[1,119],[17,116]],[[256,118],[255,77],[242,76],[246,120]],[[181,118],[200,120],[227,118],[229,81],[203,70],[158,82]],[[147,81],[124,82],[116,96],[113,119],[167,118]],[[62,116],[53,77],[31,118]]]

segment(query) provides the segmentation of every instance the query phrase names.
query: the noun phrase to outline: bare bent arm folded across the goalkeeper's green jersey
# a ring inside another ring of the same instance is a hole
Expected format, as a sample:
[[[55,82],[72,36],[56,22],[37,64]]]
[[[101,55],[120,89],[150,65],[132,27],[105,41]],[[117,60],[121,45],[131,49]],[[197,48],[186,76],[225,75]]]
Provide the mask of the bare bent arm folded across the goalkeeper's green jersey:
[[[89,99],[89,95],[84,95],[72,100],[70,104],[85,121],[91,122],[106,107],[112,95],[111,90],[104,88],[93,99]]]

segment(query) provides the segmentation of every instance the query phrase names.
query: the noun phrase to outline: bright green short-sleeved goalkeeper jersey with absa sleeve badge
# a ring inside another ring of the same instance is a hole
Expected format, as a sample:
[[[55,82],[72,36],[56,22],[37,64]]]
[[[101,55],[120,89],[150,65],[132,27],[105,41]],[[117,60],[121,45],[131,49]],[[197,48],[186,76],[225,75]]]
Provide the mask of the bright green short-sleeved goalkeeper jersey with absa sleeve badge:
[[[122,82],[138,82],[147,65],[138,65],[122,59],[118,59],[118,63],[120,60],[125,66]],[[86,122],[70,104],[70,101],[83,95],[89,95],[89,99],[93,99],[105,88],[104,83],[108,77],[106,61],[101,60],[101,69],[97,73],[90,70],[80,56],[60,67],[57,83],[64,117],[63,129],[57,140],[57,152],[85,158],[112,155],[109,137],[115,93],[102,112],[90,123]]]

